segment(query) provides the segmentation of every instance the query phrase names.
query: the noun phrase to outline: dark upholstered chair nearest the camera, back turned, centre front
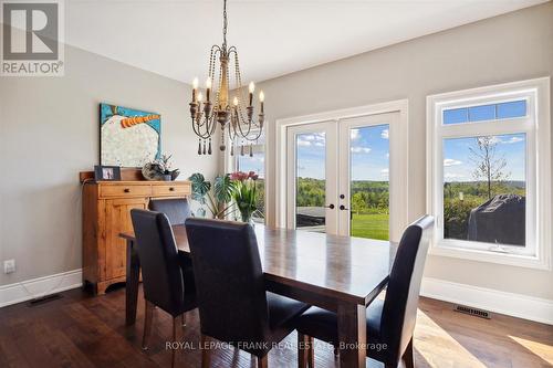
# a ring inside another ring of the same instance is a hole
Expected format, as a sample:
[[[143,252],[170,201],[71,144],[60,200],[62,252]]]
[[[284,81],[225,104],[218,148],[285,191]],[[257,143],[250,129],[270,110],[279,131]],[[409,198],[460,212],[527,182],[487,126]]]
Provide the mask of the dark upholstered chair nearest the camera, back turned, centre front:
[[[274,343],[293,332],[307,305],[265,291],[255,233],[240,222],[186,220],[202,340],[215,338],[258,357],[267,367]],[[209,366],[204,350],[202,366]]]

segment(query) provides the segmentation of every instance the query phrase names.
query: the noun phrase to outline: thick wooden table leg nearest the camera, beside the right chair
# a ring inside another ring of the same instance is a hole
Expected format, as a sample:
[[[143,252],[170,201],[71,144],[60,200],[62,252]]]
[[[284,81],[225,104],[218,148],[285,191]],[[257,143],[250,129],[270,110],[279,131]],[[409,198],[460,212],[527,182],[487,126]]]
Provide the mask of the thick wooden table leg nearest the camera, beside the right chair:
[[[340,366],[365,367],[367,353],[366,307],[357,304],[338,305]]]

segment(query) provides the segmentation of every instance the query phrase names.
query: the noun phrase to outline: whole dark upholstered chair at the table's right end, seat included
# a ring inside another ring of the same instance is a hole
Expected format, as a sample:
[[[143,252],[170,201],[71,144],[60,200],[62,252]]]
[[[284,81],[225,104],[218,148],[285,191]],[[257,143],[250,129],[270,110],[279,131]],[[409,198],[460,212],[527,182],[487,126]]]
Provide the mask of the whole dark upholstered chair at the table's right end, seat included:
[[[414,367],[413,332],[432,225],[434,218],[425,215],[405,230],[394,260],[385,299],[375,299],[367,307],[367,356],[384,362],[386,368],[396,368],[401,359],[408,368]],[[313,346],[313,337],[338,345],[334,313],[312,307],[296,318],[295,323],[299,339],[306,341],[305,346]],[[379,347],[386,344],[386,349],[371,349],[371,346],[377,344]],[[313,364],[312,350],[309,356]]]

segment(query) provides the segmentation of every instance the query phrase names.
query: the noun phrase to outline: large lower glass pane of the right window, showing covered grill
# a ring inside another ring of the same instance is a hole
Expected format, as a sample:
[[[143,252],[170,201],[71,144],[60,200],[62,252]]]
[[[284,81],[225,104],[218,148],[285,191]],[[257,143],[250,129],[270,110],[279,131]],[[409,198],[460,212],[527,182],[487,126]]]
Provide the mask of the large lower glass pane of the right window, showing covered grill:
[[[444,139],[444,238],[525,245],[525,134]]]

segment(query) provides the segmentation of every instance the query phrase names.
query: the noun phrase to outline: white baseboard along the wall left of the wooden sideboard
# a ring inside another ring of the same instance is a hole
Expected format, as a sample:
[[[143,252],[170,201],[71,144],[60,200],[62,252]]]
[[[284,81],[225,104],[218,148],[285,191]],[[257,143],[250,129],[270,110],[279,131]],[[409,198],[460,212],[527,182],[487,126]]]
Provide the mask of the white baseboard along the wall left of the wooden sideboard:
[[[83,285],[83,271],[73,270],[50,276],[0,286],[0,307],[60,293]]]

